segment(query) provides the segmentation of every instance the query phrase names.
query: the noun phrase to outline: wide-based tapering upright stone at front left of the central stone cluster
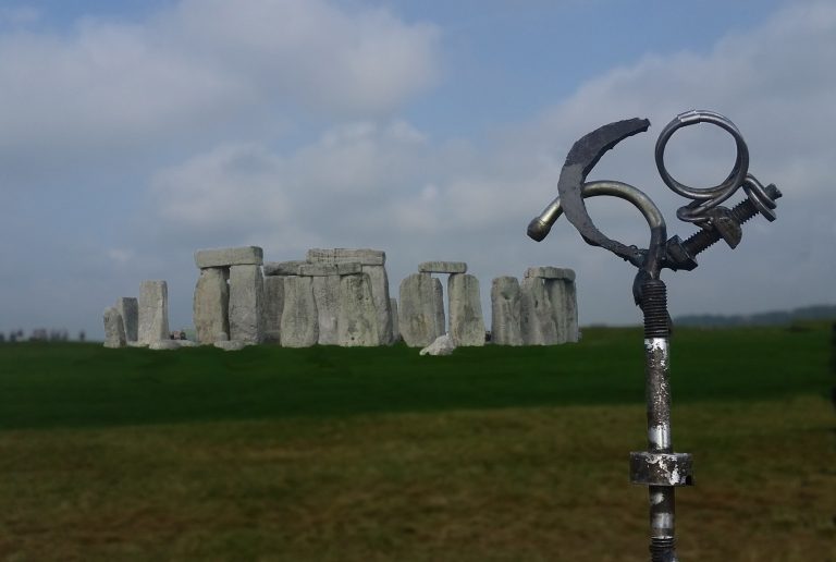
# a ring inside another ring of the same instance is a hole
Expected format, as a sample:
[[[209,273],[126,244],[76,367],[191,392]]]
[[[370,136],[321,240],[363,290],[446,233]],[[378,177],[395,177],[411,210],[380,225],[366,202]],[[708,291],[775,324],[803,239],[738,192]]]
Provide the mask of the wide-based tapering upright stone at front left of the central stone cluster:
[[[284,278],[281,343],[284,347],[309,347],[319,339],[312,277]]]

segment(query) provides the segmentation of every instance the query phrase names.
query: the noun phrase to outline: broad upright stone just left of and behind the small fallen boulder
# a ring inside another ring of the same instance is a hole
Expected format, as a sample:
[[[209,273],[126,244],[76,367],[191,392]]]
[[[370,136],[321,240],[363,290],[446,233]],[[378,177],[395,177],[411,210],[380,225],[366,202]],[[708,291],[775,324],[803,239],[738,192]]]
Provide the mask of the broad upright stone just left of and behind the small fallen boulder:
[[[410,347],[426,347],[438,333],[435,281],[429,273],[413,273],[401,281],[401,335]]]

